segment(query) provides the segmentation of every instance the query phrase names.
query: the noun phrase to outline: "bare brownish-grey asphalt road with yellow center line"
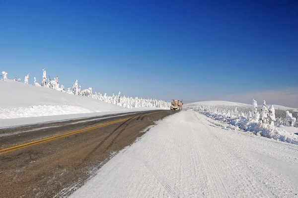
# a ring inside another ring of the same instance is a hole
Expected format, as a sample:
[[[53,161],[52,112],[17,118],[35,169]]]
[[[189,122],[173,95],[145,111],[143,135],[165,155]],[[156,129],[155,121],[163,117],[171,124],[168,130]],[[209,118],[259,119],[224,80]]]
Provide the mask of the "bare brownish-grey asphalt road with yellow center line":
[[[68,196],[115,153],[176,111],[107,115],[0,130],[0,197]]]

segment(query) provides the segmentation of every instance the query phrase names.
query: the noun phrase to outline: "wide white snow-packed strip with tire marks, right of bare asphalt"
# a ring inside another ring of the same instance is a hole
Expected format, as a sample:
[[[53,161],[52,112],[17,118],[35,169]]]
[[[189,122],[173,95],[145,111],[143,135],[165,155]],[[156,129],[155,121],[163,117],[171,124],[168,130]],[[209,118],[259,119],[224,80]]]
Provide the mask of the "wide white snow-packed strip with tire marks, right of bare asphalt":
[[[298,146],[183,111],[159,121],[71,198],[298,197]]]

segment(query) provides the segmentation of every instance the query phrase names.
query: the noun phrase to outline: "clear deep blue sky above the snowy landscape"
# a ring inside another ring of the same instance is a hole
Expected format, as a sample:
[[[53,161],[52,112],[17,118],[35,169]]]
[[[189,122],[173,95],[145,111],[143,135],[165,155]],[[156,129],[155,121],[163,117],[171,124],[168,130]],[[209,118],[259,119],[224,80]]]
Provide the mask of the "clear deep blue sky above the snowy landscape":
[[[295,0],[0,0],[0,70],[163,100],[297,97],[297,24]]]

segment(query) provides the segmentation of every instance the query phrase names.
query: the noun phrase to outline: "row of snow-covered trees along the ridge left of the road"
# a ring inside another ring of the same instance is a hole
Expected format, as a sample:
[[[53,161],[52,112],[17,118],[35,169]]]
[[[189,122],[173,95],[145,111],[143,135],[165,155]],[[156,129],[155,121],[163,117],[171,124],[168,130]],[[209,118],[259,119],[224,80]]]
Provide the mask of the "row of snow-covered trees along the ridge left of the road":
[[[7,80],[7,72],[2,71],[3,74],[3,80]],[[29,79],[29,74],[25,76],[24,78],[24,83],[28,84],[28,79]],[[54,80],[51,80],[50,75],[47,78],[47,73],[46,69],[43,69],[43,75],[42,75],[42,83],[39,84],[36,82],[36,78],[34,77],[34,86],[42,86],[42,87],[48,87],[51,89],[55,89],[58,91],[62,91],[68,94],[73,94],[73,95],[80,95],[80,96],[86,96],[98,100],[102,100],[104,102],[112,103],[115,105],[119,105],[122,107],[126,108],[136,108],[136,107],[159,107],[159,108],[169,108],[170,103],[165,102],[163,100],[156,100],[156,99],[144,99],[144,98],[132,98],[132,97],[126,97],[126,96],[121,96],[120,91],[118,95],[112,95],[108,96],[106,93],[102,95],[101,93],[93,93],[92,88],[89,87],[88,89],[83,89],[81,90],[81,86],[78,86],[77,80],[73,83],[73,87],[69,87],[67,90],[64,89],[64,86],[59,84],[59,78],[58,76],[54,78]],[[17,79],[17,76],[14,77],[15,81],[20,81],[20,79]]]

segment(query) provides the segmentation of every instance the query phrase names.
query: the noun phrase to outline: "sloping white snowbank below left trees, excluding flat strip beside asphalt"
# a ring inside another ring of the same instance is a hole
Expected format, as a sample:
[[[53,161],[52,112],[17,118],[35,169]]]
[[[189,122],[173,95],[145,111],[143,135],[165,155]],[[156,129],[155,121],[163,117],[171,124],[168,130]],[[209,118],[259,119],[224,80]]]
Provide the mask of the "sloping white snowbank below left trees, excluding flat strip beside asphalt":
[[[93,98],[0,80],[0,119],[127,110]]]

